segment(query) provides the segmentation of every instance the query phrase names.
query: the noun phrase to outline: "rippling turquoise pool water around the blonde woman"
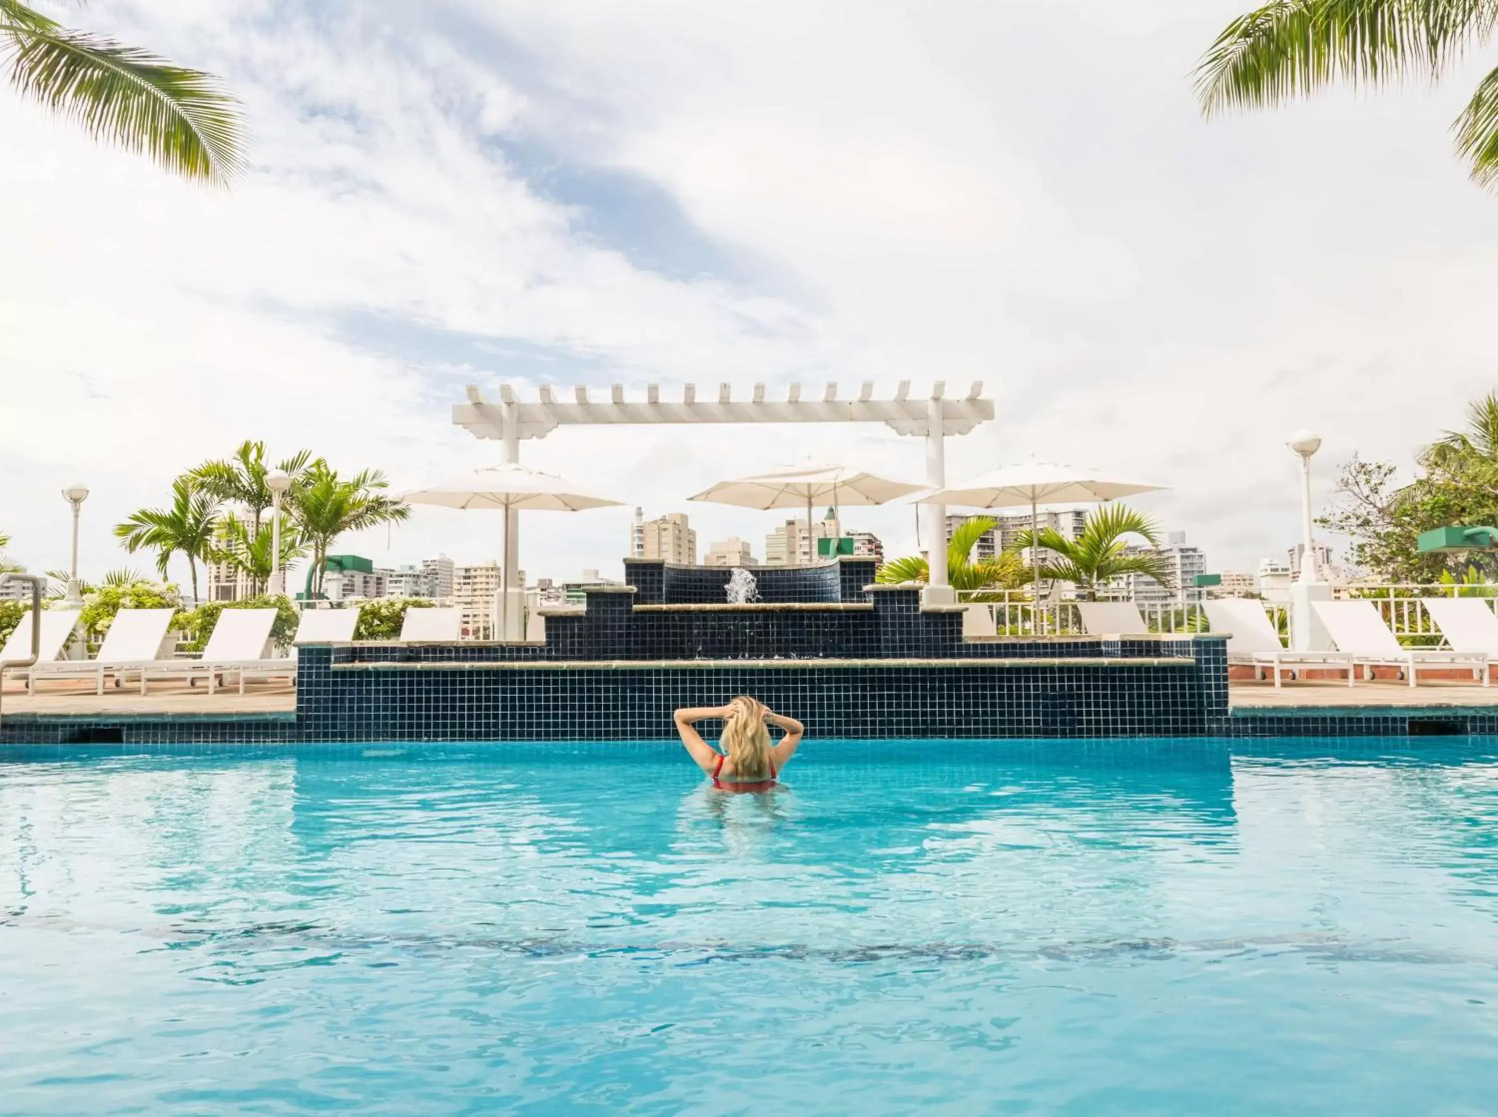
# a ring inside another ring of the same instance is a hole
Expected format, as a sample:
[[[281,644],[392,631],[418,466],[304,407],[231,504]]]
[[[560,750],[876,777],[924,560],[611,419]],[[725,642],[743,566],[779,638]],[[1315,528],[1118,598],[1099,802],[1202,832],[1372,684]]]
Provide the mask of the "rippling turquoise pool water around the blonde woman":
[[[0,752],[6,1114],[1479,1114],[1498,741]]]

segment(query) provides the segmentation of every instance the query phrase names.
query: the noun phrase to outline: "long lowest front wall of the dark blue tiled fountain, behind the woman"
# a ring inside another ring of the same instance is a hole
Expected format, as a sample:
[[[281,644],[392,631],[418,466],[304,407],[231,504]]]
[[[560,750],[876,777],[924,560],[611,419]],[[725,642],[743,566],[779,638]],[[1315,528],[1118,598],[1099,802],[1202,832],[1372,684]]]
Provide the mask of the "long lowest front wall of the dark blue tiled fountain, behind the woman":
[[[752,693],[819,737],[1198,735],[1194,663],[930,662],[334,666],[303,650],[306,740],[641,740],[671,711]]]

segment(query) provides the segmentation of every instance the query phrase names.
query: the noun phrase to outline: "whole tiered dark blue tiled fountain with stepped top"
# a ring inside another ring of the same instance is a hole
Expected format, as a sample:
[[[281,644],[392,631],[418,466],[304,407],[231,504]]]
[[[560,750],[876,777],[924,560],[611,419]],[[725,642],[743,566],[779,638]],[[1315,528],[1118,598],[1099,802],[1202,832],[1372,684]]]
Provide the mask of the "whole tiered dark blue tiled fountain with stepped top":
[[[813,567],[626,560],[535,644],[306,647],[303,740],[641,740],[752,693],[818,737],[1200,735],[1227,717],[1222,638],[965,639],[962,606]]]

